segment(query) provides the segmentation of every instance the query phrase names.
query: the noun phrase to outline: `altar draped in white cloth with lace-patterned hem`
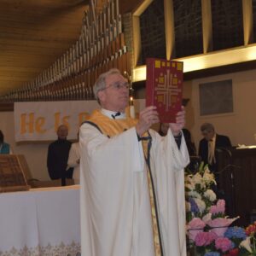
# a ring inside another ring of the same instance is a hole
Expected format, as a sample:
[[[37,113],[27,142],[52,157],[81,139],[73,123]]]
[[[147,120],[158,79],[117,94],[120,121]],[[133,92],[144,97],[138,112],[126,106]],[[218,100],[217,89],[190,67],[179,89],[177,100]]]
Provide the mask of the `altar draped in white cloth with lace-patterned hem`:
[[[80,255],[79,185],[0,194],[0,255]]]

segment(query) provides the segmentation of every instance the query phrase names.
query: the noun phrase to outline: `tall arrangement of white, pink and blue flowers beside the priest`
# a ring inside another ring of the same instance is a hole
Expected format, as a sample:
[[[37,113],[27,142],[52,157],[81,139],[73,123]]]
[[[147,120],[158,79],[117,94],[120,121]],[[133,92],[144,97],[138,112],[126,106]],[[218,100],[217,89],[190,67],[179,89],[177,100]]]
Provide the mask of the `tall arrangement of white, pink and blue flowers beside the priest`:
[[[214,186],[214,175],[203,163],[194,175],[185,175],[189,247],[195,248],[195,255],[239,255],[239,245],[247,235],[240,227],[230,227],[239,217],[225,216],[225,201],[217,199]]]

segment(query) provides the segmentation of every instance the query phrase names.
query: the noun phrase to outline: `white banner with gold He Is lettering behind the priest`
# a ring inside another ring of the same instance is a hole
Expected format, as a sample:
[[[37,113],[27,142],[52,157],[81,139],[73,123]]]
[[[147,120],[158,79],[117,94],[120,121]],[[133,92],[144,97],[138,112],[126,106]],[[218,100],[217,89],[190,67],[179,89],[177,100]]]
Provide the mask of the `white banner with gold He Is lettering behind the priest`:
[[[136,100],[134,105],[138,114],[145,101]],[[67,139],[76,139],[79,126],[96,108],[96,101],[15,102],[15,141],[55,140],[59,125],[67,125]]]

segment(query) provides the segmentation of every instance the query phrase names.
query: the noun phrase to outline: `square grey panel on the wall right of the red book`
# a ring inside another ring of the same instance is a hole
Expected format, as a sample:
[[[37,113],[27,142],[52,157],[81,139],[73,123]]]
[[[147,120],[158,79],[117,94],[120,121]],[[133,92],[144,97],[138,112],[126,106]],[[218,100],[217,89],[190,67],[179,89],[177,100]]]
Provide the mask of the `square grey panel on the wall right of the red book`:
[[[232,79],[199,84],[200,115],[233,113]]]

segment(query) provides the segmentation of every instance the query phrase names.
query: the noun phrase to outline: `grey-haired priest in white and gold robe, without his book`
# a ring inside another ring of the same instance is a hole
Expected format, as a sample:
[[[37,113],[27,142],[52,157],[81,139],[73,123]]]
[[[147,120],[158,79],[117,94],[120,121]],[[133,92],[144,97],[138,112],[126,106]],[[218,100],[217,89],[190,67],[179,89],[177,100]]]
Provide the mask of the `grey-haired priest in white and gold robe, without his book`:
[[[101,109],[80,128],[82,255],[186,255],[184,110],[160,137],[150,130],[154,106],[125,116],[129,84],[119,70],[102,73],[94,94]]]

